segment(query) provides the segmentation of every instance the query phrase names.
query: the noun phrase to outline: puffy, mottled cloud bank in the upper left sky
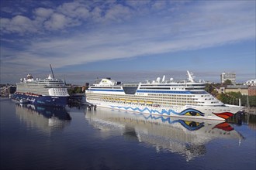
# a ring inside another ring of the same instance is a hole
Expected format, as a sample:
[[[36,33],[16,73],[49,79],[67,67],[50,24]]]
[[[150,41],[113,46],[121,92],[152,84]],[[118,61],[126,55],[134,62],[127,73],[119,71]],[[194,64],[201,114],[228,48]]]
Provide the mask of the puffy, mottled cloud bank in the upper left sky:
[[[21,12],[24,12],[24,8]],[[7,11],[5,7],[5,11]],[[35,8],[33,15],[16,15],[1,18],[1,30],[5,33],[36,33],[57,31],[80,26],[83,22],[119,22],[129,18],[130,8],[113,2],[64,2],[57,8]],[[19,22],[19,23],[17,23]],[[20,29],[19,29],[20,27]]]

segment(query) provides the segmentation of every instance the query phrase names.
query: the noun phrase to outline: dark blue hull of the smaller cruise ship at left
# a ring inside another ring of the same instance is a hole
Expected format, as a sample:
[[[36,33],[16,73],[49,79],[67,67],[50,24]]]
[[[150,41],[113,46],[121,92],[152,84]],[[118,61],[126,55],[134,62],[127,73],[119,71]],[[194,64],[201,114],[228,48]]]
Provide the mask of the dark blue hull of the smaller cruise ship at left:
[[[42,96],[31,93],[14,93],[11,97],[13,100],[28,100],[29,104],[40,104],[44,106],[61,106],[67,105],[68,97]]]

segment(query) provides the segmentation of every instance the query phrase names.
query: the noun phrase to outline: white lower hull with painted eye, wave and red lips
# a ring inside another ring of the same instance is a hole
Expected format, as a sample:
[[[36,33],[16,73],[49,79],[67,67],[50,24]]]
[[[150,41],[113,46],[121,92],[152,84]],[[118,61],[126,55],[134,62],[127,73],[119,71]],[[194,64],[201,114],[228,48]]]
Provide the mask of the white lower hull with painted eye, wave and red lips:
[[[118,104],[112,102],[102,102],[98,100],[87,100],[88,103],[97,107],[106,107],[113,110],[126,110],[130,112],[154,114],[159,116],[187,117],[196,119],[219,120],[223,121],[234,116],[243,107],[152,107],[139,104]]]

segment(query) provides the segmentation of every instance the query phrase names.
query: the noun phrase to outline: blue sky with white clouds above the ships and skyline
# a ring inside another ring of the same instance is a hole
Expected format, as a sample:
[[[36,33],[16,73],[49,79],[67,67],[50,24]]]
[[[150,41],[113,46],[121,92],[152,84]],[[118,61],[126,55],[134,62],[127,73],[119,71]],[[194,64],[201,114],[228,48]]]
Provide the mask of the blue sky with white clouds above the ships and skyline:
[[[255,1],[1,1],[1,83],[256,77]]]

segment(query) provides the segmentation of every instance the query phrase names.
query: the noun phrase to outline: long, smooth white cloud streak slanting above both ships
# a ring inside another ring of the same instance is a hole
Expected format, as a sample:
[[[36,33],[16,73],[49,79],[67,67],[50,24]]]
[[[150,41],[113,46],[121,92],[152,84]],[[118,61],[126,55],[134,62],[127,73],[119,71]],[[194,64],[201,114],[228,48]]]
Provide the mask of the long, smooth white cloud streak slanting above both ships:
[[[164,28],[168,28],[165,23],[163,25]],[[61,26],[63,25],[61,24]],[[126,26],[124,27],[126,28]],[[154,28],[154,24],[152,27]],[[129,32],[124,33],[123,30]],[[158,39],[159,37],[164,39],[165,34],[162,35],[162,32],[157,34],[153,32],[153,34],[148,25],[141,26],[140,30],[136,30],[137,27],[134,29],[116,27],[115,30],[105,29],[105,32],[99,29],[73,37],[33,42],[26,46],[25,52],[19,53],[19,58],[9,60],[9,62],[44,67],[50,60],[56,67],[62,67],[104,59],[121,59],[178,50],[202,49],[254,37],[253,26],[212,30],[204,33],[183,32],[184,35],[179,36],[178,39],[165,39],[163,41],[158,41]],[[168,32],[164,29],[162,31]],[[240,33],[237,34],[237,32]],[[49,58],[49,56],[52,57]]]

